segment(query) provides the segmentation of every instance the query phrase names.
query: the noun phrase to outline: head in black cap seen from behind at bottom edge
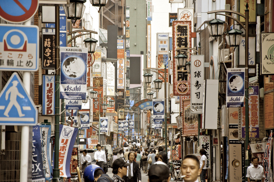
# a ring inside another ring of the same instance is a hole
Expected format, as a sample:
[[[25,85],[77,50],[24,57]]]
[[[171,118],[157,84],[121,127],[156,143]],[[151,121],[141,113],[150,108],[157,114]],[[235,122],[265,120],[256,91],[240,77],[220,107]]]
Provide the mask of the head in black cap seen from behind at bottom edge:
[[[154,162],[148,169],[149,182],[169,182],[171,171],[166,163],[162,161]]]

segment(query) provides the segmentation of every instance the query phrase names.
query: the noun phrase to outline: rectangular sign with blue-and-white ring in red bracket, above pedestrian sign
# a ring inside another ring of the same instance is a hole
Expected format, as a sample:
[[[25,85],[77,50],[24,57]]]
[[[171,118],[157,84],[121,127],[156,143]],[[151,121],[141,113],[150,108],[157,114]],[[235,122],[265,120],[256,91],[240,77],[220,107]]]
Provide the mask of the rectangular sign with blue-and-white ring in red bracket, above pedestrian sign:
[[[0,24],[0,70],[37,71],[38,46],[38,26]]]

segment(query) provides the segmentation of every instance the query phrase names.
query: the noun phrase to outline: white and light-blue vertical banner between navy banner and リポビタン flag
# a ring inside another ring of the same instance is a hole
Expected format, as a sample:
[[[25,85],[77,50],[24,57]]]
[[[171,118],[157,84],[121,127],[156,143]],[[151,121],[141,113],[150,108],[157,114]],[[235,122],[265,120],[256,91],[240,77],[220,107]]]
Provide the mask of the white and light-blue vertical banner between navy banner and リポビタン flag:
[[[51,173],[51,157],[50,157],[50,135],[51,125],[41,125],[42,133],[42,156],[43,156],[43,167],[45,171],[45,180],[50,180]]]

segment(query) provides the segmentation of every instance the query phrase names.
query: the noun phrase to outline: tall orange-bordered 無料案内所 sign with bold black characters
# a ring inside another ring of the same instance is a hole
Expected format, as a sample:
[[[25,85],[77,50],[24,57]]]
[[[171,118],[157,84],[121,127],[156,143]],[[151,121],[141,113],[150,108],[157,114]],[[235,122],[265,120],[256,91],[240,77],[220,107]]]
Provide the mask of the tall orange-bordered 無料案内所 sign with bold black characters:
[[[178,48],[191,47],[191,21],[173,21],[172,26],[173,39],[173,95],[190,95],[190,74],[187,73],[186,67],[177,67],[174,56],[180,54],[176,51]],[[187,54],[190,61],[190,54]]]

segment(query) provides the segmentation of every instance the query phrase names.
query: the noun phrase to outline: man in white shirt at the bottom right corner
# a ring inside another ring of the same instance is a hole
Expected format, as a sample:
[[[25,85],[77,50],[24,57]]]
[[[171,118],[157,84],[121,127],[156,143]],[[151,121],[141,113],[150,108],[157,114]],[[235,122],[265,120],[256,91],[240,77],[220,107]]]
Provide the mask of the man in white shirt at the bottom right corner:
[[[259,158],[257,156],[251,158],[253,164],[247,167],[246,177],[248,182],[264,182],[264,168],[259,165]],[[233,162],[232,162],[233,164]]]

